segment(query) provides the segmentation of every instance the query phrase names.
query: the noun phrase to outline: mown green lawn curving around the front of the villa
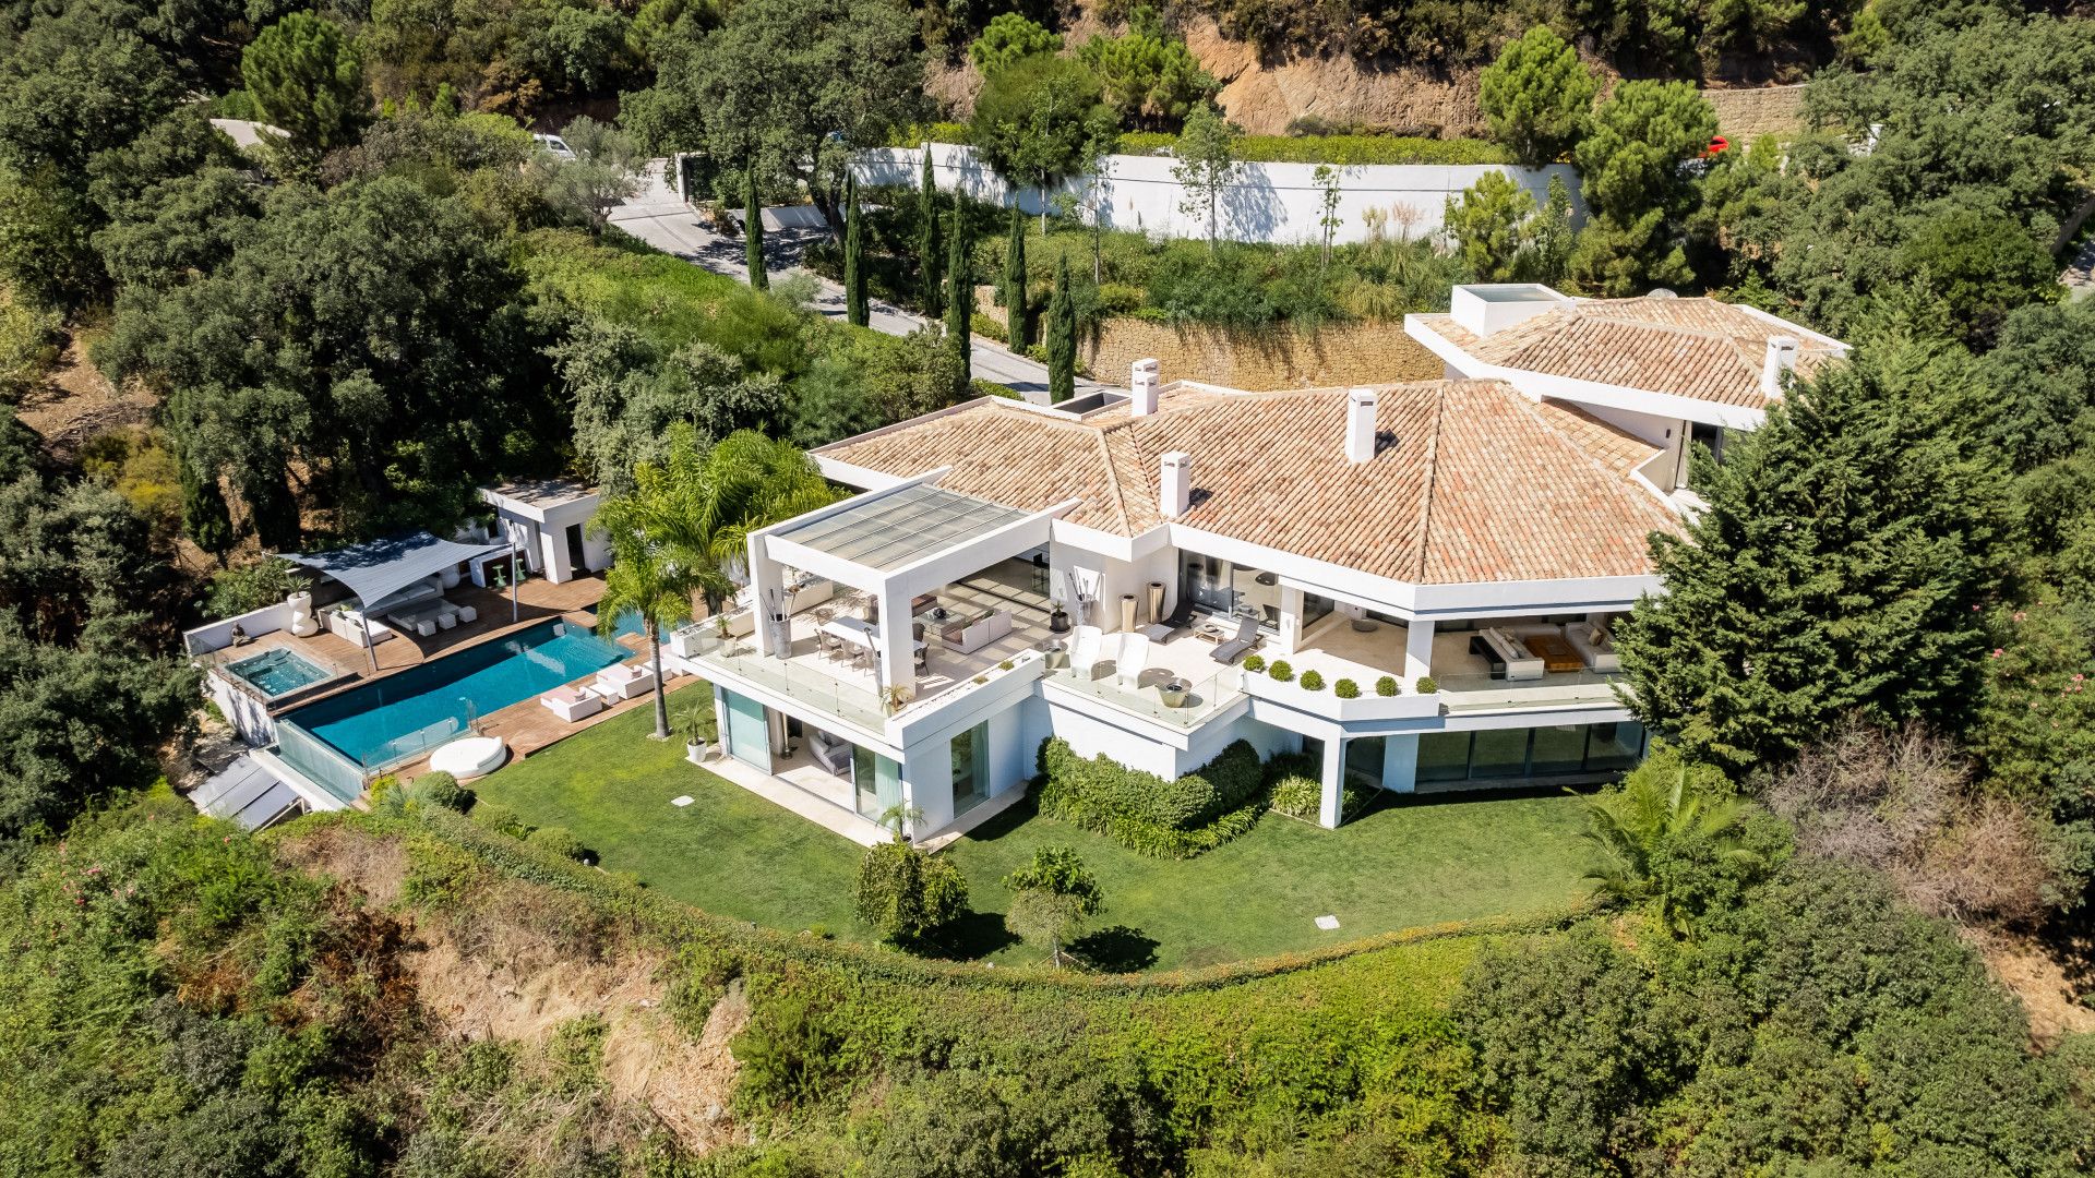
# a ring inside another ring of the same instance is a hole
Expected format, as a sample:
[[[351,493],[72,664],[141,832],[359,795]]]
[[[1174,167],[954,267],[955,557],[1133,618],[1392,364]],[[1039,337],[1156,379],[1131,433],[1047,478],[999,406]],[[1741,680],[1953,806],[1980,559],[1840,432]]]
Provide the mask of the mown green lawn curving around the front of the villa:
[[[675,899],[775,929],[867,937],[851,914],[855,843],[687,765],[681,742],[647,740],[649,725],[639,708],[476,788],[526,822],[574,830],[608,870],[637,872]],[[668,805],[679,794],[698,801]],[[1578,824],[1573,797],[1393,803],[1341,830],[1270,813],[1236,843],[1173,861],[1020,805],[947,851],[978,910],[951,952],[1037,956],[1004,933],[997,880],[1050,843],[1075,847],[1106,889],[1089,956],[1112,968],[1175,968],[1569,903],[1584,891]],[[1318,929],[1318,916],[1337,916],[1339,929]]]

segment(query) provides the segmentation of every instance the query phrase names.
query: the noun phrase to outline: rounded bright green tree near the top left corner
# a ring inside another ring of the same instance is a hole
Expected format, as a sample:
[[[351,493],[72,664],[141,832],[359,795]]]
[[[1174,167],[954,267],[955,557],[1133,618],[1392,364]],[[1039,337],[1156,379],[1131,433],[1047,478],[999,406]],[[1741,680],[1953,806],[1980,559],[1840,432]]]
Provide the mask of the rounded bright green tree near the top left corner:
[[[291,143],[308,151],[352,143],[371,103],[356,42],[312,13],[262,29],[241,54],[241,82],[262,122],[291,132]]]

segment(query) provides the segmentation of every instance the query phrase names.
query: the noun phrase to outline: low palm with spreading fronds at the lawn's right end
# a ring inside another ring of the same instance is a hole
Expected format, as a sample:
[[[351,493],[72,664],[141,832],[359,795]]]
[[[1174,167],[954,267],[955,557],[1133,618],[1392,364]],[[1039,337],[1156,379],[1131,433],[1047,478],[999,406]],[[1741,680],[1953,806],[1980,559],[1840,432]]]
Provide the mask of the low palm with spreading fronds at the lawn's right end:
[[[1678,752],[1653,748],[1622,788],[1586,801],[1582,836],[1598,849],[1586,880],[1601,895],[1628,903],[1655,899],[1659,920],[1672,924],[1674,912],[1655,878],[1655,861],[1668,847],[1699,841],[1718,861],[1751,866],[1762,859],[1737,836],[1747,803],[1712,799],[1701,778]]]

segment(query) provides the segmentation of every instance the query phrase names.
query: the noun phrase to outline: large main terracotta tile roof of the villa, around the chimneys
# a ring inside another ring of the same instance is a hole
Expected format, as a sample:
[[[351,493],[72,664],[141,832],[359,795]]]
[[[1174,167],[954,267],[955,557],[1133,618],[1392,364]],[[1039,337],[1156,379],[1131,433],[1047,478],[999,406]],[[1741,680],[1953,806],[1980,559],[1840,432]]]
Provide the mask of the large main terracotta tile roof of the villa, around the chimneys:
[[[1630,470],[1659,451],[1502,381],[1381,386],[1379,453],[1345,459],[1345,390],[1175,388],[1156,413],[1083,419],[985,398],[815,451],[1066,516],[1123,537],[1163,524],[1163,455],[1192,455],[1177,522],[1393,581],[1645,576],[1647,537],[1678,516]]]

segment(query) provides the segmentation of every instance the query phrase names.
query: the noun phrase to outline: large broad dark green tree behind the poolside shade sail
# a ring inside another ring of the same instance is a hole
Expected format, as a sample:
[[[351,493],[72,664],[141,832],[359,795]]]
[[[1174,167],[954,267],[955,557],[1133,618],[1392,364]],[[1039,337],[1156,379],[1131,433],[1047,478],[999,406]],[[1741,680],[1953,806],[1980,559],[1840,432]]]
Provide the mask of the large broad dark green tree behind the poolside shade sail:
[[[392,176],[283,187],[207,275],[128,289],[98,358],[168,392],[191,476],[222,476],[266,547],[300,547],[293,465],[346,535],[450,526],[551,417],[517,289],[457,199]]]

